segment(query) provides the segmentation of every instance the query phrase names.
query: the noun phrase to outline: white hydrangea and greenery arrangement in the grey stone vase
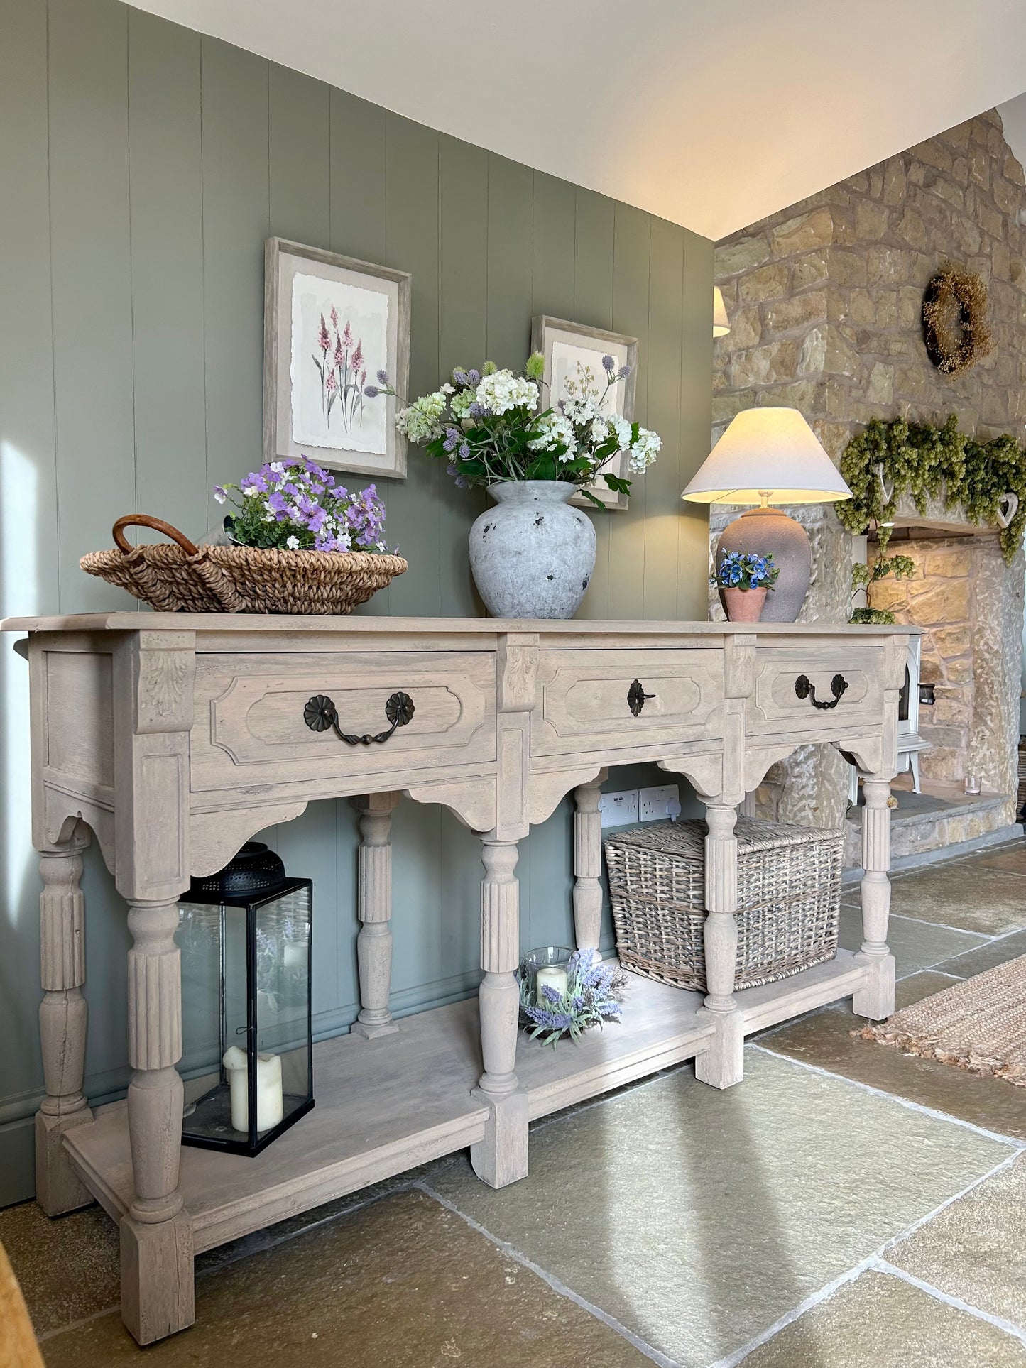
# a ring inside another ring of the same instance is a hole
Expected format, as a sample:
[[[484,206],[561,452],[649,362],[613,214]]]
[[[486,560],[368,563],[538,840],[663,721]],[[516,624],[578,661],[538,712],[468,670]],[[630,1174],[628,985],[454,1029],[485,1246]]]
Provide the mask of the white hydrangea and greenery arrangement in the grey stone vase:
[[[628,367],[617,369],[611,356],[602,358],[602,367],[603,375],[596,378],[579,365],[565,397],[554,409],[540,412],[540,352],[528,357],[523,375],[491,361],[480,371],[457,367],[451,380],[399,409],[395,425],[406,440],[445,460],[461,488],[499,480],[565,480],[603,508],[584,486],[602,475],[610,490],[629,494],[631,480],[606,466],[625,451],[631,473],[642,475],[662,443],[637,423],[603,412],[609,391],[631,372]],[[364,394],[372,399],[395,390],[379,371],[378,384],[368,384]]]

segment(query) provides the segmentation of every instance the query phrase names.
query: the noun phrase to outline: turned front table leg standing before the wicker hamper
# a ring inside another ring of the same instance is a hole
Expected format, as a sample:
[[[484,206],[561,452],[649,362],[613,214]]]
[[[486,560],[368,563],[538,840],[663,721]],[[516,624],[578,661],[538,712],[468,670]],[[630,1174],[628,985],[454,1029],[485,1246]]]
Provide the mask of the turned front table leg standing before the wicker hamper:
[[[706,993],[705,1011],[715,1022],[711,1045],[695,1057],[695,1077],[713,1088],[731,1088],[744,1073],[744,1029],[733,997],[737,963],[737,813],[706,807]]]

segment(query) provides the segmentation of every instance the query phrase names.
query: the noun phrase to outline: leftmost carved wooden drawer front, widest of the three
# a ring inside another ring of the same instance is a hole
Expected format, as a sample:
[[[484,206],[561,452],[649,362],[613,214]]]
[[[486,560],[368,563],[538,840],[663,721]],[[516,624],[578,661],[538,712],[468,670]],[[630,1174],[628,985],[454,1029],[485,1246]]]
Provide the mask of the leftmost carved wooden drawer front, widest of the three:
[[[304,717],[311,699],[330,699],[339,731],[382,736],[395,694],[409,698],[413,715],[387,740],[349,746],[327,722],[313,731]],[[198,658],[194,792],[494,759],[495,657],[488,651]]]

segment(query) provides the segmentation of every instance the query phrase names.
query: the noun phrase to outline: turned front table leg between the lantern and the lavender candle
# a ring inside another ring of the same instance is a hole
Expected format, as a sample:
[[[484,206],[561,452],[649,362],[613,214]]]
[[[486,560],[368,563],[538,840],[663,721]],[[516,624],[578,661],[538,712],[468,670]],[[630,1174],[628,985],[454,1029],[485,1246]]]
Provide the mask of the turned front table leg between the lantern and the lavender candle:
[[[484,1073],[473,1096],[488,1104],[484,1140],[471,1146],[473,1171],[491,1187],[527,1176],[527,1094],[516,1075],[520,988],[517,843],[482,837],[482,969],[479,989]]]

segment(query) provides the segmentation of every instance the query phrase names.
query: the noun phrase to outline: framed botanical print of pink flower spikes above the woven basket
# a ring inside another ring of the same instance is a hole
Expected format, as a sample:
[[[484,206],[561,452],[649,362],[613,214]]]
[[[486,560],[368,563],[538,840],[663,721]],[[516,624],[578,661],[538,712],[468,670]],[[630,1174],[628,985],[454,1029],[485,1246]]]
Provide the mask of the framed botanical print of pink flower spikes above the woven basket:
[[[409,376],[410,278],[337,252],[264,246],[264,460],[405,479],[395,397]]]

